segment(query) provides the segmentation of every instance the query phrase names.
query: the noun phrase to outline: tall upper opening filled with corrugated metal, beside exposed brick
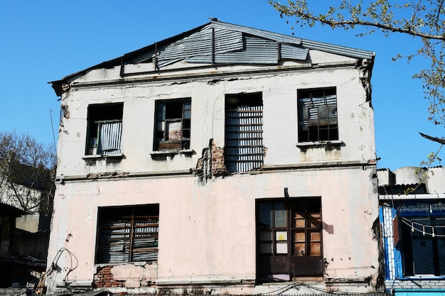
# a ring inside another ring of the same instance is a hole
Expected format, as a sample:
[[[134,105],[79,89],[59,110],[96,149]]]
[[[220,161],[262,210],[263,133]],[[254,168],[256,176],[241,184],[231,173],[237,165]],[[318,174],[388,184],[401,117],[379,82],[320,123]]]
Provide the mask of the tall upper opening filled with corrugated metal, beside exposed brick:
[[[262,94],[226,96],[225,165],[229,172],[247,172],[261,168]]]

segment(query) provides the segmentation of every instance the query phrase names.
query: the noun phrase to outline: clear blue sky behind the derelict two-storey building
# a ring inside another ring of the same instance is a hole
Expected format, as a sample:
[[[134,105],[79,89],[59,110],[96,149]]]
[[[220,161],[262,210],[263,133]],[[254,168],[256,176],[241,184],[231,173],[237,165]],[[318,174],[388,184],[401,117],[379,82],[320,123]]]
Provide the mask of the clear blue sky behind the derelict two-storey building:
[[[380,33],[355,37],[358,30],[332,30],[289,24],[266,0],[34,1],[0,2],[0,131],[16,129],[43,143],[58,133],[58,97],[48,82],[111,60],[156,41],[208,23],[209,17],[376,53],[372,105],[379,168],[417,166],[439,148],[419,131],[443,136],[427,120],[422,84],[412,75],[426,61],[392,62],[417,50],[420,40]],[[52,111],[51,111],[52,110]]]

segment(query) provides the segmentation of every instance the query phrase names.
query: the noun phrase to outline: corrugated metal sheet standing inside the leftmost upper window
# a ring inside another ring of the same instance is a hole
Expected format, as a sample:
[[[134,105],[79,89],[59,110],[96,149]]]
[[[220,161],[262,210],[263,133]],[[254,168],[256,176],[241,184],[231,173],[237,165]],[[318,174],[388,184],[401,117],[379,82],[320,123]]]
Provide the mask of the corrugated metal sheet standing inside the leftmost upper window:
[[[100,123],[98,154],[121,153],[122,121]]]

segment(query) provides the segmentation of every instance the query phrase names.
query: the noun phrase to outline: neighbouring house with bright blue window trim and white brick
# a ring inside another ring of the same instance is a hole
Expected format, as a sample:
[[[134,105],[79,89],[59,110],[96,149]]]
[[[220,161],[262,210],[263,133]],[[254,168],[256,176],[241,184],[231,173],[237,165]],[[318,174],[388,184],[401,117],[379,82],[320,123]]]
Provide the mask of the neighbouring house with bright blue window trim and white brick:
[[[445,295],[445,168],[378,175],[387,292]]]

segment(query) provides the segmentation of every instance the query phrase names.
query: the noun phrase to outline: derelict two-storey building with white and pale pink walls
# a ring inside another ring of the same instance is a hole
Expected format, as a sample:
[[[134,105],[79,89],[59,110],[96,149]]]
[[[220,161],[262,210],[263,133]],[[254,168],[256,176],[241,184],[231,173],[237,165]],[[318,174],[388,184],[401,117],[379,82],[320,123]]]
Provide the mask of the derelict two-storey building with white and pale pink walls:
[[[50,82],[48,290],[378,293],[374,57],[210,21]]]

